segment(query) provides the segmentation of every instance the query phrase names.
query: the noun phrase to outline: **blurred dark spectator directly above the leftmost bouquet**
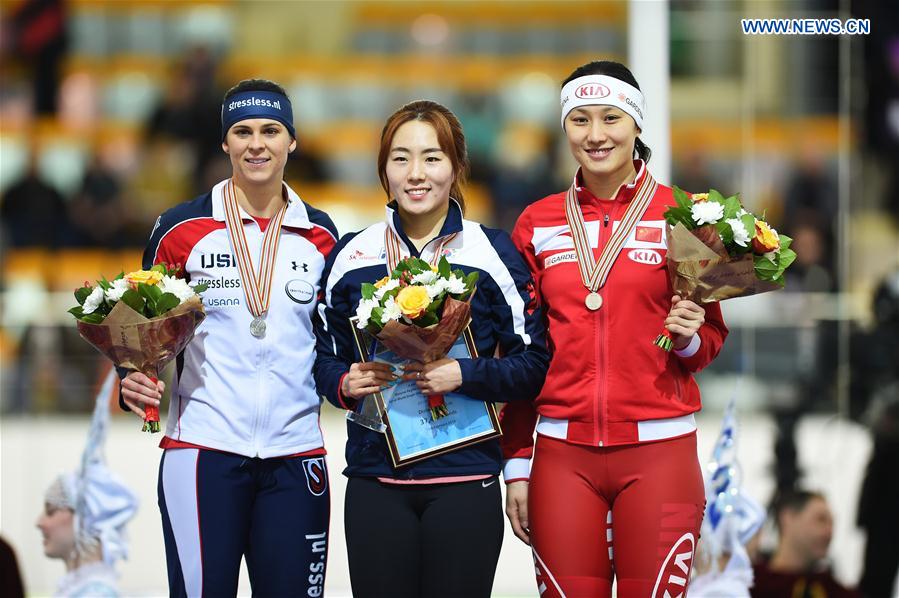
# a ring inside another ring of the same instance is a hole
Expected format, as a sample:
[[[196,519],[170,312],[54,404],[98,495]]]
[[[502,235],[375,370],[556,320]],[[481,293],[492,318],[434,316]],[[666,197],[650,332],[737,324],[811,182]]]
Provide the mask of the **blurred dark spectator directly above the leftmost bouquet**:
[[[119,177],[95,154],[84,174],[81,190],[70,204],[72,245],[117,249],[140,244],[140,240],[128,239],[126,234],[127,218],[121,193]]]

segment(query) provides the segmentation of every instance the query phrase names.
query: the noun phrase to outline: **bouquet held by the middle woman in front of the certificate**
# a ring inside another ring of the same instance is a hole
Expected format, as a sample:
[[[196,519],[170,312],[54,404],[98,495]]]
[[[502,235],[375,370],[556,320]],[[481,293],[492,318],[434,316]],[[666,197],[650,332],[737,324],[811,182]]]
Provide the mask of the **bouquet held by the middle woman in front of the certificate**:
[[[471,320],[478,273],[419,258],[400,261],[390,276],[363,283],[356,325],[404,359],[427,363],[446,355]],[[447,415],[443,395],[428,397],[431,417]]]

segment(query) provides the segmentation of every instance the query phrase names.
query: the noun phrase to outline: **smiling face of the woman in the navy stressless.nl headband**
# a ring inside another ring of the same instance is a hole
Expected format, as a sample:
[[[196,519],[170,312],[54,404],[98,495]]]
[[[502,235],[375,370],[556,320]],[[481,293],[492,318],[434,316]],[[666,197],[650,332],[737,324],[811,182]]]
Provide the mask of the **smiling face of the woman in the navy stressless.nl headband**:
[[[296,146],[287,128],[268,118],[235,123],[222,142],[222,149],[231,158],[234,177],[243,185],[280,183],[287,156]]]

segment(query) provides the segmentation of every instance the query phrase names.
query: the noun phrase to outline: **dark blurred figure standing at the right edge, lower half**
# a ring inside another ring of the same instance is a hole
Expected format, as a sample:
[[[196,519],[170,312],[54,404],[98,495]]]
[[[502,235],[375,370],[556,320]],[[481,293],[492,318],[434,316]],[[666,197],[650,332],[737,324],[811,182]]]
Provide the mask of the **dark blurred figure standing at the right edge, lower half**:
[[[852,397],[866,406],[874,437],[862,482],[858,525],[867,532],[859,589],[865,596],[892,595],[899,571],[899,270],[874,293],[874,327],[852,344]]]

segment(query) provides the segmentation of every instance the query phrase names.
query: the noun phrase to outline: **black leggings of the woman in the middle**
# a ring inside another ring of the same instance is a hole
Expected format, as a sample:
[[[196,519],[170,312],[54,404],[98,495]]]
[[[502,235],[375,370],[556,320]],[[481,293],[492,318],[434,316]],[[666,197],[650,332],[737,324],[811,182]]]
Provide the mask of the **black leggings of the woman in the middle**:
[[[350,478],[344,525],[353,596],[490,596],[503,543],[500,483]]]

